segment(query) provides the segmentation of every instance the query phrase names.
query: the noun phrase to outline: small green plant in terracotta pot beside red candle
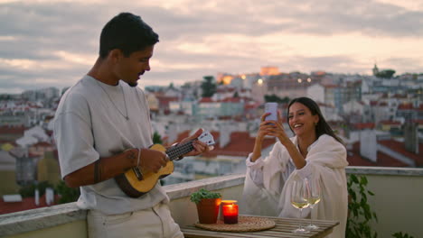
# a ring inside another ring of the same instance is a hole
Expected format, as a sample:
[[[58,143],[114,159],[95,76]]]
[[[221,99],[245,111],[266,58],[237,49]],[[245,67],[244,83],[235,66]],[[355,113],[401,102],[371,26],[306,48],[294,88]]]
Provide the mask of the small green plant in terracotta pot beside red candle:
[[[201,188],[191,194],[191,201],[197,206],[198,220],[201,224],[215,224],[221,205],[221,194]]]

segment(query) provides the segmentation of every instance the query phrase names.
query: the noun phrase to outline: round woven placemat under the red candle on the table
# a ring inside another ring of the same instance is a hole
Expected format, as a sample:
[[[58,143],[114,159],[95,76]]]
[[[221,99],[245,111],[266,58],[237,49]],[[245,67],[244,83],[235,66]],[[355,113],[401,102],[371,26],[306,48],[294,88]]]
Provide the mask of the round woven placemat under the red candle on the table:
[[[196,223],[194,225],[211,231],[246,233],[273,228],[275,227],[275,222],[264,217],[239,216],[238,224],[224,224],[223,221],[217,221],[217,224]]]

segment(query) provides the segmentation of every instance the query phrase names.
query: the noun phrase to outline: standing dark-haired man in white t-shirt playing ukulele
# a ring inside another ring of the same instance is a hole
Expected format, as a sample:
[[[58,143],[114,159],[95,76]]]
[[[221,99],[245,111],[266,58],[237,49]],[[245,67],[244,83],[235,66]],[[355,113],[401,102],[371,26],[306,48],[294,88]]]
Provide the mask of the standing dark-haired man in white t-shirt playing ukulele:
[[[159,183],[141,197],[128,197],[114,179],[135,167],[157,172],[168,161],[164,152],[148,149],[149,108],[136,87],[150,70],[156,42],[158,35],[139,16],[115,16],[101,32],[99,58],[62,96],[56,112],[61,176],[69,187],[80,187],[77,205],[89,209],[89,237],[183,237]],[[193,148],[185,155],[209,151],[198,140]]]

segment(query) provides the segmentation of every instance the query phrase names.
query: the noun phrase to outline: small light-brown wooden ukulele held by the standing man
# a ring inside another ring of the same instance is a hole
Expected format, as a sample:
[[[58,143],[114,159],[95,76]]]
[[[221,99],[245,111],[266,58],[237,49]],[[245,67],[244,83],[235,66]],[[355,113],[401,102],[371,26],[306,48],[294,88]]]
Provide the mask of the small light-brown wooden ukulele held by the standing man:
[[[138,167],[128,169],[125,173],[115,177],[118,186],[124,193],[129,197],[141,197],[148,193],[151,189],[155,188],[157,180],[164,178],[174,172],[174,162],[173,160],[178,160],[183,154],[193,151],[193,141],[199,140],[206,143],[207,145],[213,145],[214,140],[211,133],[204,131],[198,138],[184,142],[182,144],[177,144],[166,150],[161,144],[154,144],[150,146],[151,150],[163,151],[169,157],[166,165],[159,169],[156,173],[153,171],[145,171]]]

